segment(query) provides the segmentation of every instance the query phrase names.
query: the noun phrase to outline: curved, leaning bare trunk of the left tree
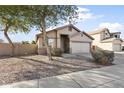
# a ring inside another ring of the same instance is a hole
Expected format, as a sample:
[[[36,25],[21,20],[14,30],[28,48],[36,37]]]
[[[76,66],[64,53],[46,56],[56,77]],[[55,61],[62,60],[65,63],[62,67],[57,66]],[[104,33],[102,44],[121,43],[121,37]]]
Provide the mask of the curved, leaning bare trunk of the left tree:
[[[6,37],[6,39],[8,40],[9,44],[10,44],[10,47],[12,48],[12,53],[11,53],[11,56],[14,56],[14,44],[12,43],[11,39],[9,38],[7,32],[8,32],[8,29],[9,27],[6,26],[6,28],[4,29],[4,36]]]

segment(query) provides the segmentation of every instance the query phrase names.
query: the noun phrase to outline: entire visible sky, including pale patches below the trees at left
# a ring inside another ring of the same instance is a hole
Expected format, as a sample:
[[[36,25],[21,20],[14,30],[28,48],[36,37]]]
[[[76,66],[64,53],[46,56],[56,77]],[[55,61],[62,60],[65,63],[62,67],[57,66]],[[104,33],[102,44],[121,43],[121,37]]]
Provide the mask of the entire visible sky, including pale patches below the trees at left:
[[[81,31],[90,32],[99,28],[108,28],[110,32],[121,32],[121,38],[124,39],[124,6],[114,5],[80,5],[79,19],[75,25]],[[30,33],[9,33],[13,42],[35,40],[35,35],[39,31],[32,29]],[[0,32],[0,39],[7,42],[2,32]]]

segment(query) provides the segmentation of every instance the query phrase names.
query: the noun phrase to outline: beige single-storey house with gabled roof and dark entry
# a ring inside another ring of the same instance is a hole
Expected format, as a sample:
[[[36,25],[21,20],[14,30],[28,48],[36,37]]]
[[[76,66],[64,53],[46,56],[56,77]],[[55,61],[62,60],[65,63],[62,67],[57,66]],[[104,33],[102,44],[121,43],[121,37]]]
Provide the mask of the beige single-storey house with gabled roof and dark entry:
[[[42,33],[37,34],[38,49],[43,44]],[[63,53],[89,53],[94,40],[86,32],[81,32],[72,24],[47,31],[48,44],[52,48],[61,48]]]

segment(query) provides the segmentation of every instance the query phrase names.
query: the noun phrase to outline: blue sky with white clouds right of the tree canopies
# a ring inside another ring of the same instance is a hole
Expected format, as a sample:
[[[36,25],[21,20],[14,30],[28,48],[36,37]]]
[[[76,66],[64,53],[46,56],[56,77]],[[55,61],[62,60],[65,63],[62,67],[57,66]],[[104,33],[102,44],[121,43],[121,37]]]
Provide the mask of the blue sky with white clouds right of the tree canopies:
[[[77,24],[81,30],[86,32],[93,31],[98,28],[107,27],[110,32],[120,31],[121,37],[124,38],[124,6],[79,6],[84,8],[82,20]],[[86,9],[89,9],[85,11]],[[85,18],[89,15],[89,18]]]

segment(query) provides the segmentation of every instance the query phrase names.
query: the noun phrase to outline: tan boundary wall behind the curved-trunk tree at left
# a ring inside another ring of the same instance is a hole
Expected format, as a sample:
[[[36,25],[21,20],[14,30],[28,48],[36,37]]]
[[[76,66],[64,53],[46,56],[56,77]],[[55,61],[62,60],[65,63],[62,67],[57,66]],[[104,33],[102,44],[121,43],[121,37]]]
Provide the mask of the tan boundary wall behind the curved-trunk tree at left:
[[[36,54],[36,44],[15,44],[15,55]],[[10,56],[12,49],[7,43],[0,43],[0,56]]]

